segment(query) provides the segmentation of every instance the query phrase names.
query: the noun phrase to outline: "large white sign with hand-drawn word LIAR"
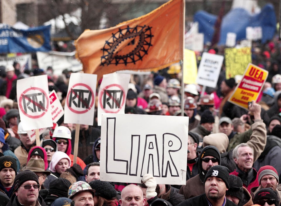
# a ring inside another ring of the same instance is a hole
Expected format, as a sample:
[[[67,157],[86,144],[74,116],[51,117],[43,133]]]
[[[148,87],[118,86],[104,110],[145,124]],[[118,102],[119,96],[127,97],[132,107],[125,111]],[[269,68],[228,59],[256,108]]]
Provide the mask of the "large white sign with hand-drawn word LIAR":
[[[186,116],[102,114],[100,180],[184,185],[188,142]]]

